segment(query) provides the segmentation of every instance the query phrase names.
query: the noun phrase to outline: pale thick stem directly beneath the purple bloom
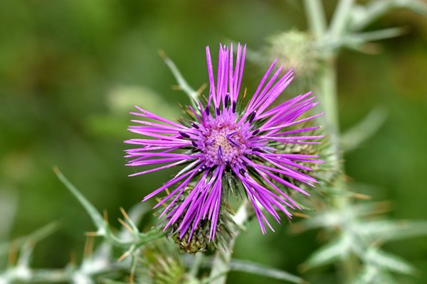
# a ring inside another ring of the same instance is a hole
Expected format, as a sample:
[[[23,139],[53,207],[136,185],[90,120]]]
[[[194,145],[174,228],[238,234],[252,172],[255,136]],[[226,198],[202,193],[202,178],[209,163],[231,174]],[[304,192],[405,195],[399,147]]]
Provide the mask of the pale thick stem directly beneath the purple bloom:
[[[229,271],[228,263],[231,261],[231,256],[233,254],[234,244],[236,244],[236,239],[238,234],[241,231],[241,226],[248,219],[248,203],[243,202],[241,207],[239,207],[236,215],[233,218],[233,221],[236,223],[232,231],[231,240],[228,242],[228,247],[226,251],[218,250],[214,257],[214,263],[212,264],[211,275],[212,279],[211,284],[225,284],[227,280],[227,273]]]

